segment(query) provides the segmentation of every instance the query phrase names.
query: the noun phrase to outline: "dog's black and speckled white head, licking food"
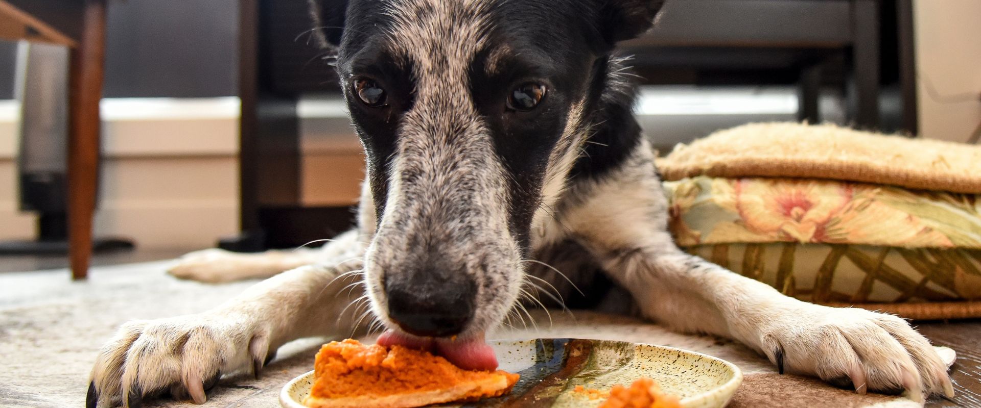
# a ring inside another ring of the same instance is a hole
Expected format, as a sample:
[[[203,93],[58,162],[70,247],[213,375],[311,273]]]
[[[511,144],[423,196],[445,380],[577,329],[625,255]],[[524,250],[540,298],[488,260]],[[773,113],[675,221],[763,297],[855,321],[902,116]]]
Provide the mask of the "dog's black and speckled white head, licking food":
[[[662,1],[311,0],[367,153],[366,285],[389,328],[482,339],[503,320],[609,53]]]

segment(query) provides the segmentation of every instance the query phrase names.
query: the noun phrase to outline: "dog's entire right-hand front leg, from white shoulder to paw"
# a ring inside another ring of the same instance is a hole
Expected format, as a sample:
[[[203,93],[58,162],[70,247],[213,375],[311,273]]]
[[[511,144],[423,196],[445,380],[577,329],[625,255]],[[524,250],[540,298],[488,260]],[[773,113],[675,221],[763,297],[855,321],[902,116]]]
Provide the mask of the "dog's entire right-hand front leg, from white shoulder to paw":
[[[604,179],[574,190],[563,225],[640,304],[678,330],[739,340],[780,370],[858,392],[953,395],[947,366],[903,319],[780,294],[675,246],[645,144]]]

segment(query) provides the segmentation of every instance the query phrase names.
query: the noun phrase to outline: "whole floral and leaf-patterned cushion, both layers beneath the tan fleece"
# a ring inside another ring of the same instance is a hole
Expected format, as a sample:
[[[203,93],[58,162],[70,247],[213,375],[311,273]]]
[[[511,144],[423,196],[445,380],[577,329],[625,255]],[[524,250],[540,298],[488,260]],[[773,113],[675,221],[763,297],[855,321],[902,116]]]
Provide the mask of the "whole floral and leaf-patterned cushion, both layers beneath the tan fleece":
[[[953,316],[935,302],[981,300],[976,195],[807,179],[664,185],[681,247],[785,295],[913,318]],[[897,308],[922,302],[933,308]],[[956,317],[981,317],[975,303]]]

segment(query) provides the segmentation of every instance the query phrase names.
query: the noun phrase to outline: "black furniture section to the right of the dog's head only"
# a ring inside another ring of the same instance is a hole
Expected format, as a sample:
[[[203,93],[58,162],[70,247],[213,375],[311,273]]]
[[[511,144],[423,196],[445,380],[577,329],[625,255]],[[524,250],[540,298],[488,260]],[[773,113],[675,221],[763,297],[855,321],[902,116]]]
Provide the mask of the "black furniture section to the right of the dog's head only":
[[[889,130],[913,134],[911,8],[911,0],[668,0],[651,32],[622,48],[647,83],[796,83],[798,118],[811,123],[830,86],[847,96],[853,126],[891,127],[881,85],[897,82],[902,118]]]

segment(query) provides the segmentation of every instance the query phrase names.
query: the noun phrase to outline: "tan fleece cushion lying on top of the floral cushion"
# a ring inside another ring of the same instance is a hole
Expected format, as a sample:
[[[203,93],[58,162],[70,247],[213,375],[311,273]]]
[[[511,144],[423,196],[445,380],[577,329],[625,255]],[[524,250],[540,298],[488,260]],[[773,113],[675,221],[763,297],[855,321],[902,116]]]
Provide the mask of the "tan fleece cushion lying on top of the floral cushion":
[[[665,180],[806,177],[981,193],[981,147],[862,132],[833,124],[750,123],[678,145]]]

